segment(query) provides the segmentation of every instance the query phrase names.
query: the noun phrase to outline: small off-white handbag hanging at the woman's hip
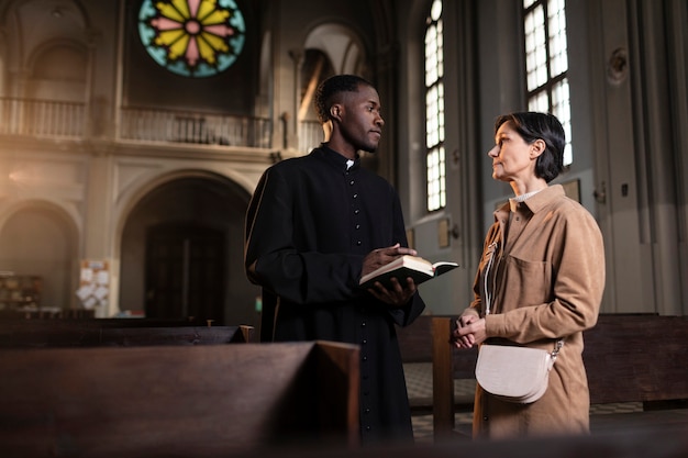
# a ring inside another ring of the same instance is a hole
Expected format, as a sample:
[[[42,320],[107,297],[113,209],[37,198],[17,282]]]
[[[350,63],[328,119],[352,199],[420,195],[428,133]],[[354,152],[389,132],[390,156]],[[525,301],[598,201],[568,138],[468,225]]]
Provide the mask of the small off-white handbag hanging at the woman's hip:
[[[550,370],[562,348],[555,349],[482,344],[476,364],[476,380],[488,393],[509,402],[528,404],[547,391]]]

